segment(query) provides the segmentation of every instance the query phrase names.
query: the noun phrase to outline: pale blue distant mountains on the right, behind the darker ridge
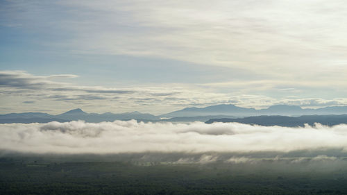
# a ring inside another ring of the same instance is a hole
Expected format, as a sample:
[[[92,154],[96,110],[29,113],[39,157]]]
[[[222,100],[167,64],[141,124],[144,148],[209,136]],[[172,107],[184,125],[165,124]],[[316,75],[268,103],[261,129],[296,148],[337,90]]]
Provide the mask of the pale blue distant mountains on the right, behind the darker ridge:
[[[261,115],[341,115],[347,114],[347,106],[333,106],[325,108],[306,108],[297,105],[271,105],[269,108],[256,110],[255,108],[242,108],[232,104],[212,105],[205,108],[185,108],[169,112],[160,117],[196,117],[208,115],[231,115],[235,117],[261,116]]]

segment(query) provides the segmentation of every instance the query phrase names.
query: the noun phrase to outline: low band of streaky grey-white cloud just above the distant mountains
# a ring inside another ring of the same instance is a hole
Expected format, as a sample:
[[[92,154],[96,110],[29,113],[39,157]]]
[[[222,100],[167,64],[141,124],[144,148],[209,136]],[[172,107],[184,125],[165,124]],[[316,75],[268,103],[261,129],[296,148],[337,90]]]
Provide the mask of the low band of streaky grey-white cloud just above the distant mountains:
[[[232,103],[246,108],[267,108],[276,104],[319,108],[347,104],[346,98],[323,99],[300,96],[273,98],[261,94],[248,94],[254,88],[275,90],[276,87],[280,87],[280,82],[276,85],[230,83],[230,86],[233,87],[232,90],[219,92],[214,89],[212,84],[205,86],[157,83],[105,87],[77,85],[71,82],[71,79],[77,78],[78,75],[74,74],[37,76],[26,71],[0,71],[0,100],[2,102],[0,113],[49,112],[50,114],[60,114],[73,108],[83,108],[87,112],[117,113],[136,110],[158,115],[185,107],[202,107],[223,103]],[[280,91],[287,93],[291,90]]]

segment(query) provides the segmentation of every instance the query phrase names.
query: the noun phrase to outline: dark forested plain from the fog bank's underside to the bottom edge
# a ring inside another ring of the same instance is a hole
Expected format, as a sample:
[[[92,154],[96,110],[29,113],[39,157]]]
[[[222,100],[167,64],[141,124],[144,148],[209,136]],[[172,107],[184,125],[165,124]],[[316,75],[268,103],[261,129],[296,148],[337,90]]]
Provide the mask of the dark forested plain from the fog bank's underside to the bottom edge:
[[[347,194],[347,159],[331,154],[340,156],[234,154],[253,160],[227,163],[221,160],[229,155],[220,154],[213,162],[169,163],[217,154],[7,154],[0,194]]]

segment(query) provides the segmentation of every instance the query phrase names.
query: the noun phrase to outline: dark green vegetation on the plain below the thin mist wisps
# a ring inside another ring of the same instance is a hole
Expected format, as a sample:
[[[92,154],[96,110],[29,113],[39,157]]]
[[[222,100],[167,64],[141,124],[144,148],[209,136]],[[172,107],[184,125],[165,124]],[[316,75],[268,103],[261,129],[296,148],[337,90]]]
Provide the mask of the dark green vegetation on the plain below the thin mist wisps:
[[[279,171],[255,166],[2,158],[0,194],[347,194],[345,169]]]

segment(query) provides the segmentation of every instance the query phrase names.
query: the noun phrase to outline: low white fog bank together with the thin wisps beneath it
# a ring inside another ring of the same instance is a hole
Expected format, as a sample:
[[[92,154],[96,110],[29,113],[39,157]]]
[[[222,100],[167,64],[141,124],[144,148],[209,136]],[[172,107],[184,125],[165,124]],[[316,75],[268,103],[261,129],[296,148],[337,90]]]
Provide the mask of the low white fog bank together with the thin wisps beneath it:
[[[217,165],[243,172],[347,171],[347,125],[286,128],[137,121],[1,124],[0,161],[8,160]]]

